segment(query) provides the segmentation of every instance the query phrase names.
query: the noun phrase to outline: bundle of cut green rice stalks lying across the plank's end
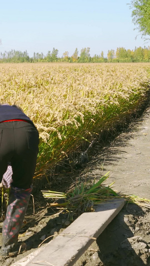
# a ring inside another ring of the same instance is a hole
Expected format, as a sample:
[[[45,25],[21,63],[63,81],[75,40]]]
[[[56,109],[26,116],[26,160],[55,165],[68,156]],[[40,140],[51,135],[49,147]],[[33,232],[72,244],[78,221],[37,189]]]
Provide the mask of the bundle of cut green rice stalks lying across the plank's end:
[[[139,198],[135,195],[125,195],[116,193],[112,190],[112,184],[104,186],[103,183],[108,178],[108,173],[102,176],[98,182],[95,181],[91,184],[87,182],[78,182],[75,188],[67,193],[59,193],[52,191],[41,191],[42,195],[46,199],[54,199],[53,203],[50,203],[50,207],[62,208],[68,212],[68,217],[73,219],[74,214],[81,214],[85,211],[94,211],[94,205],[104,204],[112,199],[124,199],[128,203],[137,204],[145,208],[150,209],[150,200]],[[64,201],[56,202],[58,199]]]

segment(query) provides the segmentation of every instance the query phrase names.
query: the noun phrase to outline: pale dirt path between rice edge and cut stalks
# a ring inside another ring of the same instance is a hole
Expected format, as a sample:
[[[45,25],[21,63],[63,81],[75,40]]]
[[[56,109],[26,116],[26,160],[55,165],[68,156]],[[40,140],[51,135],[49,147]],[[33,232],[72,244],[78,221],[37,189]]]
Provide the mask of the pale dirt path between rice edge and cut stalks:
[[[96,154],[82,172],[89,178],[109,173],[108,184],[125,194],[150,199],[150,108],[120,134],[109,147]]]

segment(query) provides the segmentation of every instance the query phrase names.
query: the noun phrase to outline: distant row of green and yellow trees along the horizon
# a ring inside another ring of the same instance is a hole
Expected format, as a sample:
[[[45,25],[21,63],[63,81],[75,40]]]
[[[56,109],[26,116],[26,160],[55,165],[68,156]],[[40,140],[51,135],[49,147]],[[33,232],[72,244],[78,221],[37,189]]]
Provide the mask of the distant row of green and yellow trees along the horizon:
[[[150,62],[150,46],[148,47],[135,47],[134,50],[125,49],[124,47],[118,47],[116,50],[108,50],[107,56],[104,56],[103,51],[94,56],[90,56],[90,48],[85,47],[80,50],[76,48],[74,53],[69,56],[68,51],[65,51],[61,57],[58,57],[58,49],[53,48],[52,51],[48,51],[46,55],[41,53],[33,53],[30,57],[25,50],[21,51],[4,51],[0,52],[0,62],[78,62],[78,63],[102,63],[102,62]]]

